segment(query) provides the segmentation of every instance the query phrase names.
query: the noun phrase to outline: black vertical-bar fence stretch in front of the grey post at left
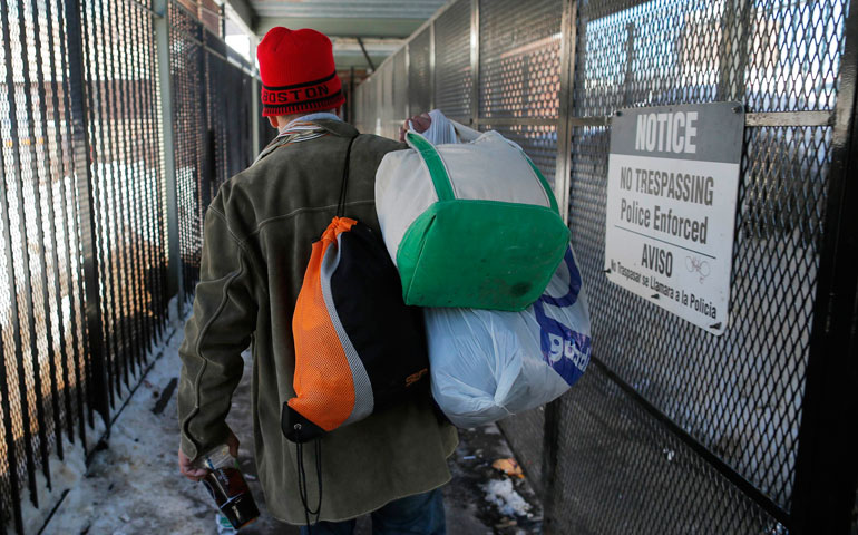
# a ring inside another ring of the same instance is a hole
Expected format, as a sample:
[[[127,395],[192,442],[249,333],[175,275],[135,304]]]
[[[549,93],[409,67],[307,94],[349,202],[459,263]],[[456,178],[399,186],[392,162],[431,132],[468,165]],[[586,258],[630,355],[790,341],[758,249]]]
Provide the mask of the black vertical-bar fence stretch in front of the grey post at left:
[[[49,459],[92,449],[164,332],[158,95],[140,13],[0,2],[0,524],[19,532],[21,502],[52,506],[37,492],[52,486]]]

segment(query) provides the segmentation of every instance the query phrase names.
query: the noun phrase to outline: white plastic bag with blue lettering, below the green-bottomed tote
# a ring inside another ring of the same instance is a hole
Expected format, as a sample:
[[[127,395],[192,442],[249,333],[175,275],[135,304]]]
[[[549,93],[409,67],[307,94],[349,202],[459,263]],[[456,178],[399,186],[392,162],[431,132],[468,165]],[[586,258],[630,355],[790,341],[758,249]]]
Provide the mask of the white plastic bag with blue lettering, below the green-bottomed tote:
[[[589,363],[587,299],[572,246],[545,293],[520,312],[426,309],[432,396],[458,427],[552,401]]]

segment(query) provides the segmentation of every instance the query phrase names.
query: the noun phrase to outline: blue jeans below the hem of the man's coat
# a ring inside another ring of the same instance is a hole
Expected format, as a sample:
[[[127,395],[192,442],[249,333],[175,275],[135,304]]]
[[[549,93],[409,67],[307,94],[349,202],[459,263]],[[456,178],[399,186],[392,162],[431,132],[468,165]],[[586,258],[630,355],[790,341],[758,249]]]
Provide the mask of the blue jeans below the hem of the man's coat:
[[[372,535],[445,535],[443,495],[440,488],[393,500],[372,512]],[[351,535],[355,521],[320,522],[301,526],[301,535]]]

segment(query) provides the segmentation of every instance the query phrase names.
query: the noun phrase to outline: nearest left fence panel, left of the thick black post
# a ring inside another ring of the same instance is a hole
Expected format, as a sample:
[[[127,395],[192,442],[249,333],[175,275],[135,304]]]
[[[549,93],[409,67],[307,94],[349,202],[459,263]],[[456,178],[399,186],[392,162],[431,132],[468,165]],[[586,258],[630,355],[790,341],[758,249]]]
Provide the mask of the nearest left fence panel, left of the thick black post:
[[[0,4],[0,514],[3,524],[21,488],[49,478],[48,456],[62,437],[85,440],[92,420],[79,235],[74,217],[66,46],[61,13],[33,27],[33,6]],[[38,198],[38,202],[37,202]]]

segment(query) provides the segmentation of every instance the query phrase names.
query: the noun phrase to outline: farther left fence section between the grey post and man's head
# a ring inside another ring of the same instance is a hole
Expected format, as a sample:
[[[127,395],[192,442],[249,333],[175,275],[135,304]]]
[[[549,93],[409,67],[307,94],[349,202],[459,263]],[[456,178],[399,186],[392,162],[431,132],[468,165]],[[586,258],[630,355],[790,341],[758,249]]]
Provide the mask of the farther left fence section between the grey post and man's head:
[[[252,108],[259,95],[251,66],[196,16],[178,2],[169,3],[169,13],[178,240],[183,296],[189,300],[199,274],[205,210],[221,184],[255,156]],[[262,135],[266,125],[259,123]]]

